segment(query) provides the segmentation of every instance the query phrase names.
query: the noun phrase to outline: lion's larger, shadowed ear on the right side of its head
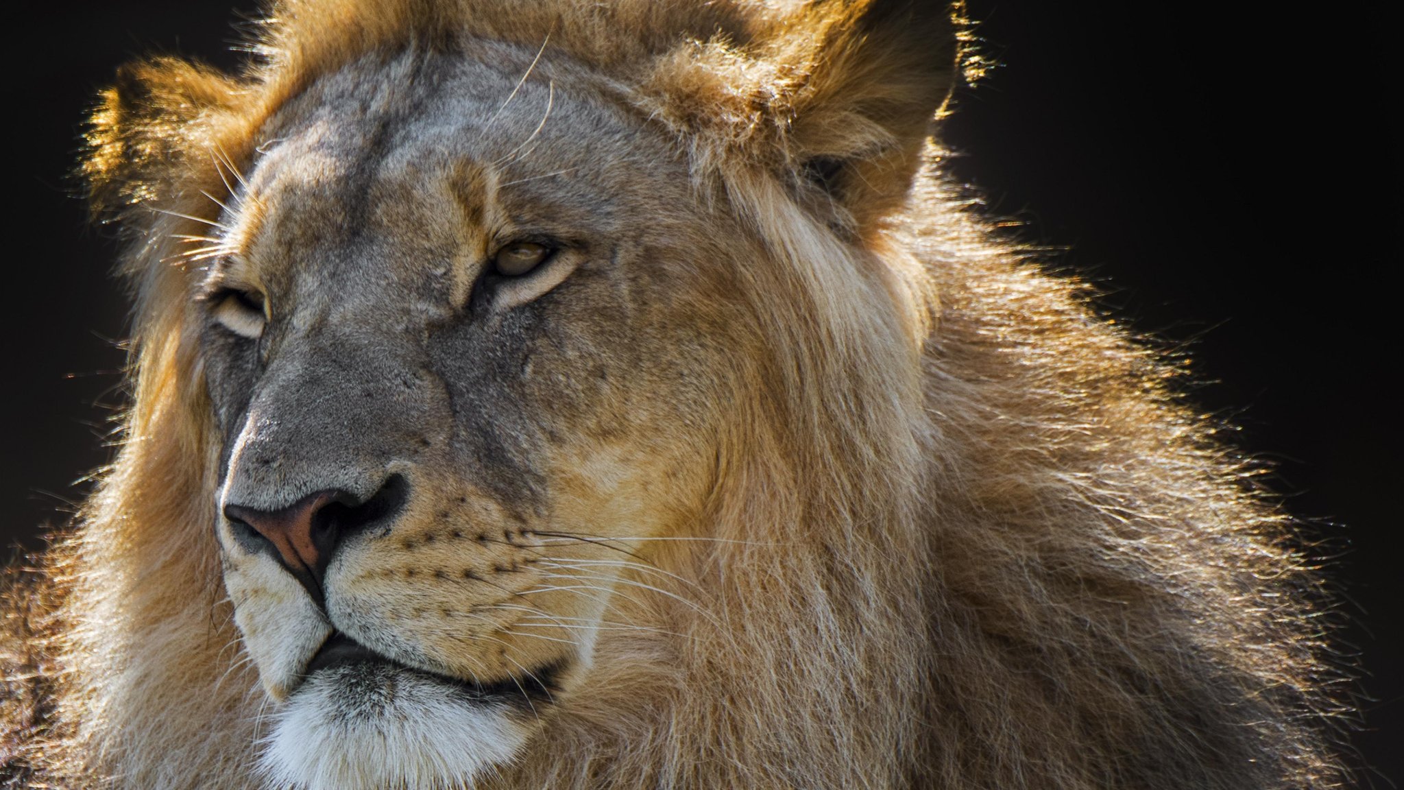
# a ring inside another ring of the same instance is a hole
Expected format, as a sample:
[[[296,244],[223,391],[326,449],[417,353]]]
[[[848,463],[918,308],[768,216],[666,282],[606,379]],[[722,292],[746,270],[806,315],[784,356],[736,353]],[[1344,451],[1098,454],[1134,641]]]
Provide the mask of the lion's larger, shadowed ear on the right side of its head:
[[[956,75],[959,6],[819,0],[775,44],[795,76],[776,111],[795,174],[858,228],[906,198]]]

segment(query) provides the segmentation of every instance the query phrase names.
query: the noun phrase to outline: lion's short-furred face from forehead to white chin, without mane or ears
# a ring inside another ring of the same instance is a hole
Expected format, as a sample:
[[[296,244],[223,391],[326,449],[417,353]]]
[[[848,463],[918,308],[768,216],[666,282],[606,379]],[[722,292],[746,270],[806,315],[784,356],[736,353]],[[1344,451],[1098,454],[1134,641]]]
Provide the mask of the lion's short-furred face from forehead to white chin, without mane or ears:
[[[507,63],[320,80],[204,253],[225,583],[288,782],[507,759],[710,485],[750,242],[661,138]]]

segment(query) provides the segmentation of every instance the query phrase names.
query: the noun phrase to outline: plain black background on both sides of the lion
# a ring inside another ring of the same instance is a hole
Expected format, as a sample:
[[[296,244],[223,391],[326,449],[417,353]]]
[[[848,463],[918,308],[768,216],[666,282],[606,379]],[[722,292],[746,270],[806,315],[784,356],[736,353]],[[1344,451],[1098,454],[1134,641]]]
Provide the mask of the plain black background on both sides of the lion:
[[[4,545],[39,547],[38,526],[66,520],[86,491],[73,481],[110,458],[125,396],[115,246],[66,177],[83,110],[140,53],[236,63],[227,1],[7,10]],[[1360,784],[1389,787],[1404,780],[1400,398],[1387,384],[1401,14],[1285,8],[970,0],[1000,66],[958,91],[943,139],[990,214],[1098,283],[1113,315],[1186,349],[1192,398],[1276,465],[1352,621],[1341,649],[1365,675]]]

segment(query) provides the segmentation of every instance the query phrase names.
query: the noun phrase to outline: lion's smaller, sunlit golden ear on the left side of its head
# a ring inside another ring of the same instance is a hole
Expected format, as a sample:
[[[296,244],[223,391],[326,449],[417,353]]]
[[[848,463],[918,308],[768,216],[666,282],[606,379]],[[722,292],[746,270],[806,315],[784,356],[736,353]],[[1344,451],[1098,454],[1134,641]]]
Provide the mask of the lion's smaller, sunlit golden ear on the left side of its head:
[[[80,174],[94,214],[164,197],[211,125],[239,96],[237,80],[160,58],[122,66],[88,119]]]

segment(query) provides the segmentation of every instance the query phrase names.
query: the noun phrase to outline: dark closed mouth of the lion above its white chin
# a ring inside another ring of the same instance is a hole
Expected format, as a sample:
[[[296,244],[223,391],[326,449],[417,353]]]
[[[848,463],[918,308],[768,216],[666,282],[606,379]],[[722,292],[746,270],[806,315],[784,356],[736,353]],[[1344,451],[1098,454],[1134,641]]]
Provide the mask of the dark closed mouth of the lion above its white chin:
[[[552,694],[560,690],[557,680],[566,669],[566,662],[557,661],[539,666],[525,672],[521,678],[508,676],[500,680],[484,682],[407,666],[393,658],[375,652],[341,631],[331,631],[327,641],[322,644],[322,648],[307,662],[307,668],[303,671],[303,682],[317,672],[344,671],[354,673],[358,668],[395,669],[418,675],[448,686],[452,696],[462,703],[507,703],[535,710],[536,704],[555,701]]]

